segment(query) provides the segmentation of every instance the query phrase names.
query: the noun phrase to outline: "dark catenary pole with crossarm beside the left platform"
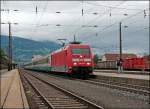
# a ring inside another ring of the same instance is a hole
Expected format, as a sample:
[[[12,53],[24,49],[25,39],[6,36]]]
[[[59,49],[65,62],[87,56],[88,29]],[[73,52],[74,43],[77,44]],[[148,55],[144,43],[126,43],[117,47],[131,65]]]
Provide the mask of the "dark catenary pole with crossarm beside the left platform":
[[[12,34],[11,34],[11,24],[17,25],[18,23],[1,23],[8,24],[9,26],[9,40],[8,40],[8,71],[12,70]]]

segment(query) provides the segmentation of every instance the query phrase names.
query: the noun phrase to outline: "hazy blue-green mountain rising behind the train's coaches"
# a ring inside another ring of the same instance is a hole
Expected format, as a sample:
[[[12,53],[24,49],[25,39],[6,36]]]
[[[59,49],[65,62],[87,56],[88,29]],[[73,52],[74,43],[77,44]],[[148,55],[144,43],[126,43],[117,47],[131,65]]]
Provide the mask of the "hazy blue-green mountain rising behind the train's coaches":
[[[53,41],[34,41],[12,36],[13,60],[31,61],[33,55],[46,55],[60,45]],[[8,36],[1,36],[1,47],[8,52]]]

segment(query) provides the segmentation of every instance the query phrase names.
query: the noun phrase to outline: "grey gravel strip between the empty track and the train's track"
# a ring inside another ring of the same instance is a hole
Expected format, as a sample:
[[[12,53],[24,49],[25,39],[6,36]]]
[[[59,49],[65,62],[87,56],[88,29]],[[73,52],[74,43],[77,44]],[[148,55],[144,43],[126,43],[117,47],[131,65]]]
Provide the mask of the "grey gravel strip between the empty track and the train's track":
[[[85,82],[69,80],[64,78],[54,78],[50,75],[38,74],[41,78],[47,79],[50,82],[64,87],[82,97],[87,98],[92,102],[105,108],[149,108],[149,97],[133,94],[129,92],[111,89],[103,86],[97,86]]]

